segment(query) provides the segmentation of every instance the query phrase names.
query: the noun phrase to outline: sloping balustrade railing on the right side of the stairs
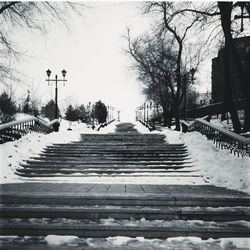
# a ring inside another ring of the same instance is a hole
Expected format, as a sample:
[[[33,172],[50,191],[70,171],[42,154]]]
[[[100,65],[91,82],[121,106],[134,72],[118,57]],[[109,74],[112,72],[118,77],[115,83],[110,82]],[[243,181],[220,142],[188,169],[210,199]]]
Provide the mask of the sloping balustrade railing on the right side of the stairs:
[[[213,140],[219,148],[226,148],[234,155],[250,156],[250,138],[238,135],[224,128],[211,124],[204,119],[196,119],[191,123],[181,121],[183,132],[198,131]]]

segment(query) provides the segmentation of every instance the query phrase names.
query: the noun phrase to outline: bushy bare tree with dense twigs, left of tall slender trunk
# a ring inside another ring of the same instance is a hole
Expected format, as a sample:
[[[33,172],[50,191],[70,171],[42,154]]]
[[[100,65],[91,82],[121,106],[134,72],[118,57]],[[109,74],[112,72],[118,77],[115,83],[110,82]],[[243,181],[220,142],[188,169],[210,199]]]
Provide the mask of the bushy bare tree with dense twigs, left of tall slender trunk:
[[[181,61],[181,84],[178,83],[177,68],[178,52],[174,49],[173,39],[168,39],[165,33],[144,35],[131,41],[127,36],[127,53],[134,59],[134,66],[138,72],[138,79],[144,84],[144,93],[159,101],[163,109],[164,124],[170,126],[175,117],[176,129],[179,129],[178,110],[185,95],[188,84],[185,76],[187,66]],[[191,60],[191,62],[193,62]],[[197,65],[195,65],[197,66]]]

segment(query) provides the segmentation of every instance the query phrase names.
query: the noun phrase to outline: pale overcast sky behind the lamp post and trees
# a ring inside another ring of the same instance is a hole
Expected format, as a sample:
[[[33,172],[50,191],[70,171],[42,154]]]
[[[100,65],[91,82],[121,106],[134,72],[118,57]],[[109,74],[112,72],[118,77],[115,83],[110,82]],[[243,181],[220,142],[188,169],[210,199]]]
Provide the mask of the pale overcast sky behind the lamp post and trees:
[[[147,30],[150,19],[143,17],[136,2],[88,3],[83,17],[69,20],[69,31],[59,24],[51,24],[46,38],[38,33],[20,31],[15,34],[18,46],[25,51],[24,60],[17,68],[24,74],[16,88],[18,96],[31,95],[46,103],[54,98],[54,86],[46,84],[46,70],[52,77],[67,71],[65,86],[59,87],[59,108],[68,104],[87,104],[99,99],[121,110],[122,120],[135,117],[135,108],[144,102],[140,83],[130,69],[124,53],[126,28],[132,35]],[[210,79],[206,70],[202,79]],[[199,88],[206,91],[208,81]],[[15,88],[15,87],[14,87]]]

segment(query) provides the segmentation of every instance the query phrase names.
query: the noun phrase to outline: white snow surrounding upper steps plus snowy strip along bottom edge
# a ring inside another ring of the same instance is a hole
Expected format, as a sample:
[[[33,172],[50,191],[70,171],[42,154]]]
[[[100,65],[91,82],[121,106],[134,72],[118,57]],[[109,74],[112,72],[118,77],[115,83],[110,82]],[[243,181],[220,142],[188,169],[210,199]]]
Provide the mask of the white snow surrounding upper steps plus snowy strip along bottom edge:
[[[0,145],[0,171],[1,183],[27,182],[28,179],[18,177],[14,174],[14,169],[20,164],[41,152],[47,145],[53,143],[67,143],[79,141],[81,133],[109,133],[114,132],[115,125],[101,129],[99,132],[92,130],[83,123],[73,123],[72,131],[67,130],[69,123],[62,121],[60,131],[48,135],[31,133],[23,136],[20,140],[8,142]],[[136,124],[136,129],[141,133],[149,133],[148,129],[140,123]],[[159,132],[153,132],[159,133]],[[77,181],[77,182],[99,182],[99,183],[143,183],[143,184],[209,184],[233,188],[250,193],[250,158],[238,158],[228,150],[221,150],[215,147],[213,142],[208,141],[205,136],[197,133],[182,133],[164,129],[162,131],[167,136],[169,143],[185,143],[188,146],[192,157],[194,168],[203,175],[197,177],[87,177],[87,178],[51,178],[37,179],[37,181]],[[35,179],[32,179],[34,181]],[[104,221],[110,223],[110,221]],[[2,242],[22,242],[22,244],[32,244],[32,242],[41,241],[44,246],[90,246],[106,249],[126,247],[137,249],[147,247],[147,249],[249,249],[250,240],[246,238],[228,238],[228,239],[208,239],[201,240],[197,237],[176,237],[165,240],[145,239],[143,237],[108,237],[106,239],[82,239],[76,236],[57,236],[48,235],[46,237],[0,237]]]

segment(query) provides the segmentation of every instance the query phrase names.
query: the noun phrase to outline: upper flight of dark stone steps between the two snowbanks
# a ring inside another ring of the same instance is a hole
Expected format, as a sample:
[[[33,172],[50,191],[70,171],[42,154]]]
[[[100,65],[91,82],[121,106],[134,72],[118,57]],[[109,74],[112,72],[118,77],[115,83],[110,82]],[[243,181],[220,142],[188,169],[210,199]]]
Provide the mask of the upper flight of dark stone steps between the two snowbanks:
[[[183,144],[162,134],[84,134],[82,141],[48,146],[16,173],[23,177],[165,176],[194,173]]]

